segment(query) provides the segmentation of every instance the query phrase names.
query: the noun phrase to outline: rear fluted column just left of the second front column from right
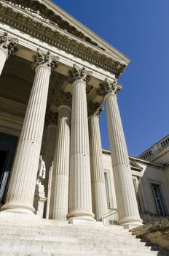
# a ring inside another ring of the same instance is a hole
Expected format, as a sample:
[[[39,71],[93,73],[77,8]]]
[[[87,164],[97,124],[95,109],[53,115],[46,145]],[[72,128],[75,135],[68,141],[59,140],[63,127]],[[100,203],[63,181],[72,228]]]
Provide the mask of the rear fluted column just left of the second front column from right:
[[[60,91],[58,107],[58,145],[52,167],[50,219],[66,220],[68,214],[68,174],[70,154],[71,94]]]

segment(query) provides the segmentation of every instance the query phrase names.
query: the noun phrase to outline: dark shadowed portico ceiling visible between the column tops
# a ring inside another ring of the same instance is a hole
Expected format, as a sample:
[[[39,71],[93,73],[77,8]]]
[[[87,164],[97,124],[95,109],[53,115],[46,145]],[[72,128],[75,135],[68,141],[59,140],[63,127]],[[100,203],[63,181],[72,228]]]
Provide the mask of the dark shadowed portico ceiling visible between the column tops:
[[[0,77],[1,97],[22,103],[23,105],[28,104],[35,75],[34,70],[31,69],[31,64],[31,61],[18,56],[13,56],[6,61]],[[72,86],[68,83],[67,78],[66,75],[57,72],[57,70],[50,76],[47,110],[51,109],[53,112],[58,110],[53,102],[58,97],[60,90],[72,92]],[[87,99],[101,104],[103,99],[98,96],[95,83],[95,80],[92,80],[90,84],[87,84]]]

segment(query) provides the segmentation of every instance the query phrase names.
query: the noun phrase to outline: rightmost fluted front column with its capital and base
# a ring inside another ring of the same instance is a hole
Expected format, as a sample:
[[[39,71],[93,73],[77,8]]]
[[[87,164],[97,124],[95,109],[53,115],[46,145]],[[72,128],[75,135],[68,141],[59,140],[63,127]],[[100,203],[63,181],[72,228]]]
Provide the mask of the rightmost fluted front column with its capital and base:
[[[98,93],[105,96],[111,162],[119,214],[118,223],[130,227],[141,225],[142,220],[138,212],[125,135],[117,104],[117,94],[120,89],[122,86],[118,85],[115,80],[111,82],[106,79],[101,84]]]

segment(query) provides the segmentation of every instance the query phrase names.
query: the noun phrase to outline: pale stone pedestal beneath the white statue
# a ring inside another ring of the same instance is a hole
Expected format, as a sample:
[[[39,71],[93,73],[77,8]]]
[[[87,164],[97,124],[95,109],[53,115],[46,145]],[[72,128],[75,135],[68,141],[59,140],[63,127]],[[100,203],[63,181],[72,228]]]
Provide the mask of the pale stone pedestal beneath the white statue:
[[[39,217],[43,217],[44,213],[44,203],[46,202],[47,197],[44,194],[44,185],[36,184],[35,189],[35,196],[34,196],[34,214],[38,215]]]

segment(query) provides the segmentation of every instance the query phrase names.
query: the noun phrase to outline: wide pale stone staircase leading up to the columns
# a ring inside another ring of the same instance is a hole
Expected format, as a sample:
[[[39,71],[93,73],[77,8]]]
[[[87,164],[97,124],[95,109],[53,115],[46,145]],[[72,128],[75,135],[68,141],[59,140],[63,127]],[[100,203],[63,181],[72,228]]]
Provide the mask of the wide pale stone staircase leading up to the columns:
[[[2,217],[1,256],[168,256],[117,225],[71,225],[47,219]]]

